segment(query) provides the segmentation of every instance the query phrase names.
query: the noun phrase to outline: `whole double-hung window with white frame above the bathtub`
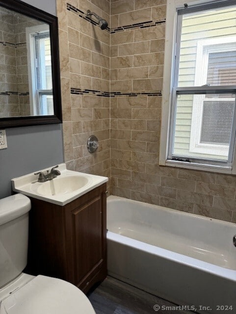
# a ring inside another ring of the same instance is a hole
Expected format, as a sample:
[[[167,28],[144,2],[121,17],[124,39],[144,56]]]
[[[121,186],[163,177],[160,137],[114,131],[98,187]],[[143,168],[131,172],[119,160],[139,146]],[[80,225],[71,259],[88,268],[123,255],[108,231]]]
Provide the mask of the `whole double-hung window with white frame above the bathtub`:
[[[236,173],[236,1],[204,2],[167,3],[159,163]]]

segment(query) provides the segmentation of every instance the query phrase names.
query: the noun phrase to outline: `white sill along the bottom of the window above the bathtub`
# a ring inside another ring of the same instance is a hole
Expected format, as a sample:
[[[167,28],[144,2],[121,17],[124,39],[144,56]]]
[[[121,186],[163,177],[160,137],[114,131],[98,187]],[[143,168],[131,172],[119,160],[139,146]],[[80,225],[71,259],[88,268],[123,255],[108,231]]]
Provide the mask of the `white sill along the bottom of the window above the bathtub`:
[[[178,160],[167,159],[165,161],[165,166],[186,168],[201,171],[219,172],[225,174],[234,174],[232,167],[230,166],[219,166],[219,165],[209,165],[203,163],[185,162]]]

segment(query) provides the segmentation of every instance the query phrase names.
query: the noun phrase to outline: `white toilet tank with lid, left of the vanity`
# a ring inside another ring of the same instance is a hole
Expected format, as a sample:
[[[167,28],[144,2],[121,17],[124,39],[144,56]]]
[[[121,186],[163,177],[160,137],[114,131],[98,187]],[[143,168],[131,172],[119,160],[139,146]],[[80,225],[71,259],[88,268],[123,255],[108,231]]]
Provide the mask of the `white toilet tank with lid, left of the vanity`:
[[[26,267],[29,209],[30,200],[23,194],[0,199],[0,287]]]

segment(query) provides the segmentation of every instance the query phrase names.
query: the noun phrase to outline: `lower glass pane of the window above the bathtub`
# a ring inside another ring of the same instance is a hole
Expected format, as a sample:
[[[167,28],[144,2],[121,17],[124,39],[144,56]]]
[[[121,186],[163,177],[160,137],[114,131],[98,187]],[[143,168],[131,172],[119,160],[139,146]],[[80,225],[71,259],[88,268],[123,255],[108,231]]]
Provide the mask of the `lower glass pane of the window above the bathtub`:
[[[235,95],[223,96],[177,96],[173,156],[228,160]]]

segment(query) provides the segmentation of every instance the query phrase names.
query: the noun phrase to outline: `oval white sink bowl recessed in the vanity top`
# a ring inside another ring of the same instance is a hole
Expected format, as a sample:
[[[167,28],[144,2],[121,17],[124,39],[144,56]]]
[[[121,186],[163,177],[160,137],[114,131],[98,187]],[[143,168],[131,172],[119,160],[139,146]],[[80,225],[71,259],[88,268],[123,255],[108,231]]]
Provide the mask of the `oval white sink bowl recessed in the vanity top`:
[[[57,177],[40,184],[40,186],[37,188],[37,192],[45,196],[71,193],[86,186],[86,184],[88,184],[90,181],[90,178],[87,178],[83,175]]]

